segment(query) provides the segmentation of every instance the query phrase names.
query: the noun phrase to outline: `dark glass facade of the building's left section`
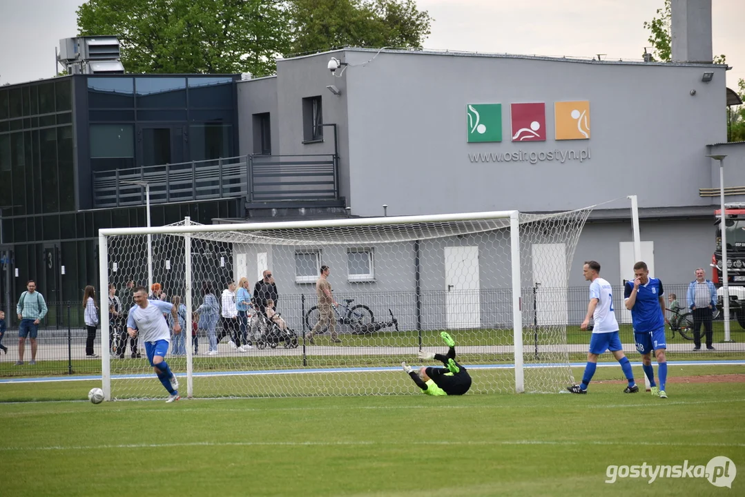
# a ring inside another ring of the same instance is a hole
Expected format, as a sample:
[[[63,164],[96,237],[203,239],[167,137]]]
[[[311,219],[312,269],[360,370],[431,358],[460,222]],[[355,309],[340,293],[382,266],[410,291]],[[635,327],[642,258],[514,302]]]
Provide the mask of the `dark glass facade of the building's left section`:
[[[234,80],[75,75],[0,87],[0,308],[15,315],[28,279],[50,303],[79,300],[98,283],[98,229],[145,226],[145,206],[86,210],[94,171],[237,156]],[[210,224],[241,209],[236,199],[153,204],[151,218]]]

